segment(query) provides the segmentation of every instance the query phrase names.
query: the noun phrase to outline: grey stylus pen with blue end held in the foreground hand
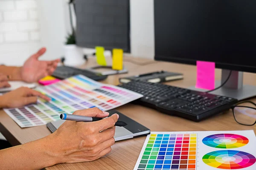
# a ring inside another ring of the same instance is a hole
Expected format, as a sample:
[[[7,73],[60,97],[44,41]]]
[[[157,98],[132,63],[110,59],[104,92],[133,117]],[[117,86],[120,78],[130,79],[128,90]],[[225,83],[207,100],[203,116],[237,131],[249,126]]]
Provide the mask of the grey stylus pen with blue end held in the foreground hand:
[[[98,117],[88,117],[88,116],[80,116],[80,115],[74,115],[74,114],[66,114],[66,113],[62,113],[60,115],[60,118],[62,120],[73,120],[76,122],[95,122],[95,121],[99,121],[102,120],[102,118],[98,118]],[[117,121],[115,126],[126,126],[127,123],[122,122],[122,121]]]

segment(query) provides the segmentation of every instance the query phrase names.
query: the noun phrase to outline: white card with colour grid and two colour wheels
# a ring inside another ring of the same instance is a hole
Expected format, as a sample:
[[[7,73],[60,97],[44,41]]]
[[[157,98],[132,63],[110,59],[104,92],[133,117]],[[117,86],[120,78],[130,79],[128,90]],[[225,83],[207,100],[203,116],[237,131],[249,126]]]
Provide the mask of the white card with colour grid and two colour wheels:
[[[151,132],[134,170],[256,170],[253,130]]]

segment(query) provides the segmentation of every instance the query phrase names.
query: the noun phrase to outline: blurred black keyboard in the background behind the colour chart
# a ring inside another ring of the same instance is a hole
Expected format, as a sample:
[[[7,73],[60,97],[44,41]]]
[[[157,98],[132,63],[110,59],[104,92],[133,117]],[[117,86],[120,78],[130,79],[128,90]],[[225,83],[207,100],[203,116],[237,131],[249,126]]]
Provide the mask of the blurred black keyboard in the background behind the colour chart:
[[[72,77],[78,74],[82,74],[96,81],[104,80],[108,77],[107,75],[102,75],[100,73],[94,73],[89,70],[84,70],[84,69],[79,69],[79,68],[74,68],[69,66],[57,67],[56,70],[53,72],[52,76],[58,79],[66,79],[68,77]]]

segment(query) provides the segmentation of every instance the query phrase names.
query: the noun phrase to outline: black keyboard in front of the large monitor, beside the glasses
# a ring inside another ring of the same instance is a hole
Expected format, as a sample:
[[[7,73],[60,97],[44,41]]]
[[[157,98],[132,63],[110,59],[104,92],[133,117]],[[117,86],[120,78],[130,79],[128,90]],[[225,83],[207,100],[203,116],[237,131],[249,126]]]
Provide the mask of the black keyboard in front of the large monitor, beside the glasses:
[[[160,83],[128,82],[119,87],[144,95],[135,100],[135,104],[196,122],[227,111],[238,102],[237,99],[225,96],[216,96]]]

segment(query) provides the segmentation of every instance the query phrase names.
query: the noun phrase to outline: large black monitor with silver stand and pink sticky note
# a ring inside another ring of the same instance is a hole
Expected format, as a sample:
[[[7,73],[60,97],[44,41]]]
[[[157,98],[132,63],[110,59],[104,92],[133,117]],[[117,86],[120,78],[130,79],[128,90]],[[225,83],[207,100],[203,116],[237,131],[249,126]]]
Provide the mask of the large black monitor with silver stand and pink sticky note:
[[[223,69],[221,82],[233,71],[213,94],[255,96],[256,87],[243,85],[241,72],[256,73],[255,8],[255,0],[154,0],[155,59],[215,62]]]

